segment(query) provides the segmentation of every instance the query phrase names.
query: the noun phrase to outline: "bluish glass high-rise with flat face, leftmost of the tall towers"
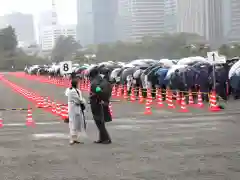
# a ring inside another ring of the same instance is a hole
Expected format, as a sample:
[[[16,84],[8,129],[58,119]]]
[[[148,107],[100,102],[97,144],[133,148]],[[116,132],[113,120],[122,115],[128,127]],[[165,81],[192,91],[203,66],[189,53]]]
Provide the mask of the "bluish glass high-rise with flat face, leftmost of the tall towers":
[[[115,41],[117,0],[78,0],[77,39],[88,44]]]

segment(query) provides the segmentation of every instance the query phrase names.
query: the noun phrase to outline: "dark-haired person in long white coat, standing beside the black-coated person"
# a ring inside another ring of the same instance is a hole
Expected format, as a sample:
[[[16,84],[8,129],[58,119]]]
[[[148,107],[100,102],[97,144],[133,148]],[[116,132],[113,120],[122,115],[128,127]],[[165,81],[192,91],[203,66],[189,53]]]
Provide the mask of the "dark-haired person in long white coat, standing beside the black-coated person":
[[[68,116],[70,129],[70,145],[79,144],[79,136],[84,131],[84,120],[82,106],[85,106],[85,99],[82,92],[77,89],[78,81],[72,80],[72,87],[67,88],[65,95],[68,97]]]

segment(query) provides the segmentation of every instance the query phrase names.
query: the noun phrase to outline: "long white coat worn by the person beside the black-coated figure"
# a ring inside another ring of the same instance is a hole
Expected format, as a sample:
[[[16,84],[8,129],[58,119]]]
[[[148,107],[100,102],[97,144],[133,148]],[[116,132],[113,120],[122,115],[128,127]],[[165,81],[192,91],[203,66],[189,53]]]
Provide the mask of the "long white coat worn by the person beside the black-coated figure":
[[[77,94],[77,91],[79,92],[79,95]],[[85,99],[82,96],[82,92],[74,88],[67,88],[65,95],[68,97],[70,136],[79,136],[84,129],[84,122],[81,107],[76,104],[80,104],[80,102],[85,104]]]

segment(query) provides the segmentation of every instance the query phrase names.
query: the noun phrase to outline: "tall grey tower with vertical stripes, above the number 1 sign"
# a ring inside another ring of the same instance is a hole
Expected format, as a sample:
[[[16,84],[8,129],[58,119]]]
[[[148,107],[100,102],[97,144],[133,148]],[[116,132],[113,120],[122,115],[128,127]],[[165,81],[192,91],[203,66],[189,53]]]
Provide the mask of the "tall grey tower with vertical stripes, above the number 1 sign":
[[[177,0],[178,32],[197,33],[213,45],[222,43],[221,0]]]

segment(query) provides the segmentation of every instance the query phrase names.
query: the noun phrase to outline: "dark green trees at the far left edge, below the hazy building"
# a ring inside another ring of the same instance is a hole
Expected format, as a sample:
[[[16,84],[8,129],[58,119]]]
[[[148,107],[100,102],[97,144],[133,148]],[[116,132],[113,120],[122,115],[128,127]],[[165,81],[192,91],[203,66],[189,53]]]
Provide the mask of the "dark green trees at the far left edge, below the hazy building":
[[[17,36],[13,27],[0,29],[0,71],[23,70],[26,65],[47,62],[36,56],[26,55],[17,45]]]

